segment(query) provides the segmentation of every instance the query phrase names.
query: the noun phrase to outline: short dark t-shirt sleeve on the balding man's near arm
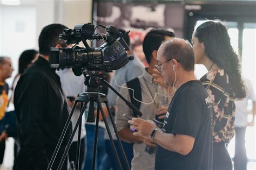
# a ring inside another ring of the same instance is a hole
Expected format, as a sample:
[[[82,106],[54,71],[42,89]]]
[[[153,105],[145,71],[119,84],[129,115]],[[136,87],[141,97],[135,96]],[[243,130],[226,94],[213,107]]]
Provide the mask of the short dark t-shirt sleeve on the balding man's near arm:
[[[196,138],[203,112],[201,105],[199,95],[192,91],[187,91],[181,96],[177,109],[174,110],[177,116],[174,119],[172,133]]]

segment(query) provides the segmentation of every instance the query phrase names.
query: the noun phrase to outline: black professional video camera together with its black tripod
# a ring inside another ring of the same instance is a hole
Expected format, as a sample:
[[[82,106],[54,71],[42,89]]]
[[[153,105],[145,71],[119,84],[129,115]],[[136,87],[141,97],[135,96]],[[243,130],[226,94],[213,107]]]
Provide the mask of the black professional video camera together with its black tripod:
[[[102,26],[105,28],[106,34],[95,34],[95,30],[98,26]],[[107,133],[109,134],[111,145],[113,147],[114,154],[116,155],[116,159],[119,165],[119,169],[122,168],[121,161],[119,159],[119,155],[114,145],[113,137],[110,131],[110,127],[106,121],[106,116],[104,113],[104,109],[102,104],[105,104],[107,111],[110,113],[109,104],[107,101],[107,97],[105,94],[100,93],[102,84],[105,84],[111,90],[116,93],[121,100],[123,100],[134,112],[136,112],[139,116],[142,116],[142,112],[139,111],[131,102],[127,101],[125,97],[120,95],[116,89],[114,89],[109,82],[105,80],[106,73],[112,72],[112,70],[116,70],[122,68],[126,65],[129,60],[133,60],[133,56],[128,56],[126,51],[129,50],[129,46],[126,44],[123,39],[124,36],[127,36],[129,32],[120,32],[114,26],[103,26],[97,25],[96,27],[93,24],[78,24],[74,27],[74,29],[66,29],[63,34],[59,34],[60,40],[64,40],[66,45],[75,44],[72,48],[50,48],[49,54],[49,63],[51,68],[60,68],[72,67],[72,70],[75,75],[79,76],[84,74],[85,76],[85,86],[87,87],[84,93],[78,94],[75,99],[75,104],[72,107],[70,115],[66,121],[62,134],[58,140],[58,144],[53,152],[52,158],[50,160],[48,170],[51,169],[53,162],[55,161],[56,155],[59,152],[60,146],[62,146],[63,139],[66,131],[71,123],[71,118],[73,112],[75,111],[78,102],[80,102],[80,115],[75,124],[75,127],[72,131],[68,144],[66,145],[65,151],[63,153],[62,159],[59,162],[58,169],[61,169],[68,154],[70,145],[72,143],[73,137],[75,136],[76,130],[79,125],[78,130],[78,142],[77,142],[77,160],[76,167],[79,169],[79,155],[80,155],[80,132],[82,129],[82,116],[85,113],[85,109],[87,104],[89,103],[89,111],[87,112],[86,121],[87,122],[95,122],[95,105],[97,103],[97,117],[96,117],[96,131],[95,131],[95,142],[93,148],[93,161],[92,161],[92,169],[95,169],[96,162],[96,148],[97,148],[97,137],[98,137],[98,123],[99,123],[99,114],[102,115],[103,121],[106,125]],[[86,40],[100,40],[103,39],[105,42],[100,47],[90,47]],[[85,48],[77,46],[77,44],[82,41]],[[130,169],[129,162],[127,161],[121,140],[118,136],[118,131],[116,125],[114,124],[113,117],[109,114],[111,124],[113,126],[114,132],[116,133],[118,145],[122,153],[122,157],[125,160],[126,169]]]

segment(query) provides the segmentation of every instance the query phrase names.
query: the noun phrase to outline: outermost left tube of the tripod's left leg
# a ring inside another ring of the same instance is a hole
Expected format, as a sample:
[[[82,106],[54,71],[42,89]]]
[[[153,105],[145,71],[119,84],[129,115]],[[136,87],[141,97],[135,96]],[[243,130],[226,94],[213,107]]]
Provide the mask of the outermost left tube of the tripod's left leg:
[[[56,146],[56,148],[55,148],[55,150],[54,150],[54,152],[53,152],[53,154],[52,154],[52,157],[51,157],[50,163],[49,163],[49,165],[48,165],[48,167],[47,167],[47,170],[50,170],[50,169],[51,169],[51,167],[52,167],[52,165],[53,165],[53,162],[54,162],[55,159],[56,159],[56,156],[57,156],[57,153],[58,153],[58,151],[59,151],[60,145],[62,144],[62,141],[63,141],[63,139],[64,139],[64,136],[65,136],[65,134],[66,134],[66,131],[67,131],[68,128],[69,128],[69,125],[70,125],[70,122],[71,122],[71,117],[73,116],[73,112],[75,111],[75,109],[76,109],[76,107],[77,107],[77,103],[78,103],[78,102],[76,101],[75,104],[73,105],[72,111],[70,112],[70,115],[69,115],[68,119],[66,120],[64,129],[63,129],[63,131],[62,131],[62,134],[60,135],[58,144],[57,144],[57,146]]]

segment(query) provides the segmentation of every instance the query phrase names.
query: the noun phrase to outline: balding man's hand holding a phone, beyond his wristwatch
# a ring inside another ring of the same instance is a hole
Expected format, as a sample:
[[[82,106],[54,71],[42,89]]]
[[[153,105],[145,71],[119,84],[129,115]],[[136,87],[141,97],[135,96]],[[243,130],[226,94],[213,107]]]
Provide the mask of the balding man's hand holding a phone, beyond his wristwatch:
[[[130,123],[131,129],[137,130],[137,132],[134,132],[134,136],[140,136],[144,138],[149,138],[150,134],[154,129],[157,128],[156,123],[153,121],[145,121],[141,118],[132,118],[132,121],[128,121]]]

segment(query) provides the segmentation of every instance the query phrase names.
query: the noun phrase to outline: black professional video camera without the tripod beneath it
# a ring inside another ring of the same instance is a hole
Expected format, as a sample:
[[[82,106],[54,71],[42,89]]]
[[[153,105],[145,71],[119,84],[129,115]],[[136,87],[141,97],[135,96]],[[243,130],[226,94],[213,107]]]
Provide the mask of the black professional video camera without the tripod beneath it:
[[[102,25],[99,25],[102,26]],[[78,24],[74,29],[65,29],[59,34],[59,39],[64,40],[66,45],[83,42],[85,48],[74,46],[73,48],[50,48],[49,62],[52,68],[72,67],[79,75],[82,70],[104,70],[111,72],[122,68],[132,56],[127,56],[129,46],[123,37],[129,32],[120,32],[114,26],[102,26],[106,34],[95,34],[93,24]],[[104,39],[100,47],[90,47],[86,40]],[[75,74],[76,74],[75,73]],[[76,74],[76,75],[77,75]]]

